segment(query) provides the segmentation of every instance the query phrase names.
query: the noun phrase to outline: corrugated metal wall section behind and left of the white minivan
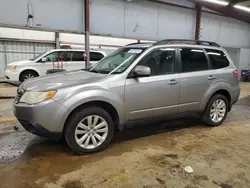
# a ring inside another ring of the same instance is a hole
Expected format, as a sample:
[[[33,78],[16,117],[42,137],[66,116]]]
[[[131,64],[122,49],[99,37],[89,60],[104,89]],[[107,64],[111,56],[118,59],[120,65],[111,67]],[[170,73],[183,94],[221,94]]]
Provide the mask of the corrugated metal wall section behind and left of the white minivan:
[[[38,54],[54,49],[53,43],[0,41],[0,77],[8,63],[34,58]]]

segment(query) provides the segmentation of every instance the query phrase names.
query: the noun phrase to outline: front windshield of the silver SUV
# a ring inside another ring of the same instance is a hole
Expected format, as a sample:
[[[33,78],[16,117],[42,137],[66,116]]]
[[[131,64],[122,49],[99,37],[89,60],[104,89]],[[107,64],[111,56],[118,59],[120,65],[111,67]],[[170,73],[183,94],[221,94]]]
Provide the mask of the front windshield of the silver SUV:
[[[90,72],[120,74],[145,50],[145,48],[120,48],[102,59]]]

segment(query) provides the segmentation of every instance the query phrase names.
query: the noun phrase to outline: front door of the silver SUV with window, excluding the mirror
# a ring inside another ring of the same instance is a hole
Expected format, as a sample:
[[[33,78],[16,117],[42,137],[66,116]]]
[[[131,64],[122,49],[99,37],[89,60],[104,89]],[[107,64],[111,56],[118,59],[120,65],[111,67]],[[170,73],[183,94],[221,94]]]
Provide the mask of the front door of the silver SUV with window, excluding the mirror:
[[[138,64],[148,66],[151,76],[127,78],[125,84],[125,116],[127,121],[177,114],[179,74],[176,50],[157,48]]]

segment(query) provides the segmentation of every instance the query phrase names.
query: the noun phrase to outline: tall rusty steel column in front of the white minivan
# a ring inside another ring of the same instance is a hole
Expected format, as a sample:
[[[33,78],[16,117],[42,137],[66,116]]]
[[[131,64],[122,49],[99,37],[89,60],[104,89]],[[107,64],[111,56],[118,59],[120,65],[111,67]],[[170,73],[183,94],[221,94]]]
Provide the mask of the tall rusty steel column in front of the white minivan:
[[[89,53],[89,0],[85,0],[85,67],[89,67],[90,53]]]

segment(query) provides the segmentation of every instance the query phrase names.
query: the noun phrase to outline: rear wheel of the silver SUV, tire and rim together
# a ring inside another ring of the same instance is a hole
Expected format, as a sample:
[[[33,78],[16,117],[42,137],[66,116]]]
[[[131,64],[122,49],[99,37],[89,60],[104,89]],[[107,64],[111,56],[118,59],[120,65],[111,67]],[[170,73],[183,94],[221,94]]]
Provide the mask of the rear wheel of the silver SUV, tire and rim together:
[[[202,120],[209,126],[218,126],[227,117],[229,103],[224,95],[216,94],[209,100],[202,115]]]

